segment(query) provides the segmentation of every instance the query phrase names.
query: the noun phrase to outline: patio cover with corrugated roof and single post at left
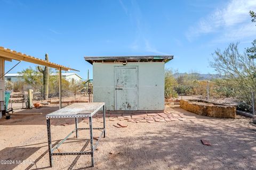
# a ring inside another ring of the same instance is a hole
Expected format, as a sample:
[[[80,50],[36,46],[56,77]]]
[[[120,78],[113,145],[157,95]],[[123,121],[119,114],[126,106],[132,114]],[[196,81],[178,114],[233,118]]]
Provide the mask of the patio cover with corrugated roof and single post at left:
[[[29,62],[29,63],[34,63],[34,64],[48,66],[48,67],[52,67],[54,69],[58,69],[59,70],[59,104],[60,104],[60,109],[61,109],[61,71],[62,70],[78,71],[78,70],[71,69],[70,67],[66,67],[66,66],[63,66],[60,64],[55,64],[55,63],[52,63],[49,61],[45,61],[45,60],[30,56],[30,55],[22,54],[20,52],[16,52],[15,50],[11,50],[11,49],[4,48],[4,47],[0,47],[0,58],[2,58],[5,61],[10,61],[10,62],[12,60],[25,61],[25,62]]]

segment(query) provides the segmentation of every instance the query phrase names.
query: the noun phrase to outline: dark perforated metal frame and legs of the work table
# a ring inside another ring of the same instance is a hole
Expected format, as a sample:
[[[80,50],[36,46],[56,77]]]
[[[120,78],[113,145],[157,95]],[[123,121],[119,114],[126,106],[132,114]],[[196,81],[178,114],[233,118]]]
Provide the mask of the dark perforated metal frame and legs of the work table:
[[[106,137],[106,129],[105,129],[105,112],[106,112],[106,106],[105,103],[102,103],[103,105],[101,107],[99,107],[96,111],[94,111],[94,113],[91,114],[74,114],[74,115],[57,115],[57,116],[52,116],[50,114],[46,115],[46,124],[47,124],[47,135],[48,135],[48,147],[49,147],[49,159],[50,159],[50,166],[53,166],[53,160],[52,160],[52,156],[54,155],[91,155],[91,160],[92,160],[92,167],[94,166],[94,150],[98,147],[99,144],[99,140],[103,134],[103,138]],[[92,127],[92,116],[97,113],[101,108],[103,108],[103,128],[93,128]],[[64,109],[64,108],[62,108]],[[61,111],[61,109],[59,110]],[[51,141],[51,122],[50,119],[51,118],[70,118],[70,117],[74,117],[75,118],[75,124],[76,124],[76,128],[71,131],[66,138],[64,138],[60,143],[58,143],[57,146],[52,148],[52,141]],[[78,128],[78,117],[89,117],[89,123],[90,123],[90,128]],[[97,142],[95,143],[95,145],[93,145],[93,129],[97,129],[97,130],[102,130],[99,139],[97,140]],[[73,134],[74,132],[76,132],[76,138],[78,138],[78,130],[90,130],[90,143],[91,143],[91,151],[87,151],[87,152],[59,152],[59,153],[53,153],[53,151],[55,149],[57,149],[64,141],[66,141],[68,139],[68,137]]]

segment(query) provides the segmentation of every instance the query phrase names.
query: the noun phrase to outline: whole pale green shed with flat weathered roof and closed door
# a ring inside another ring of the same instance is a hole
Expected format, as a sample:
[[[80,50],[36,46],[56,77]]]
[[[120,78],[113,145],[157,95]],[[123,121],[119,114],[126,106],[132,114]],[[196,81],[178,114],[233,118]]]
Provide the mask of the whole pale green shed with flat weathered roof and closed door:
[[[84,57],[93,65],[93,101],[109,111],[163,111],[164,64],[172,55]]]

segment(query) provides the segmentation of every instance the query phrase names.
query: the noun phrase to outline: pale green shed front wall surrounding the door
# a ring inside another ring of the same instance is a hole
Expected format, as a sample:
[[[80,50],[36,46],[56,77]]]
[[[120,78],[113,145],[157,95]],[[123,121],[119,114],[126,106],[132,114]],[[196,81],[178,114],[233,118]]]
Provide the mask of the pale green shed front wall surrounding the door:
[[[122,63],[93,63],[93,101],[105,102],[115,110],[115,67]],[[164,110],[164,63],[136,62],[126,66],[138,68],[138,110]],[[125,66],[124,66],[125,67]]]

